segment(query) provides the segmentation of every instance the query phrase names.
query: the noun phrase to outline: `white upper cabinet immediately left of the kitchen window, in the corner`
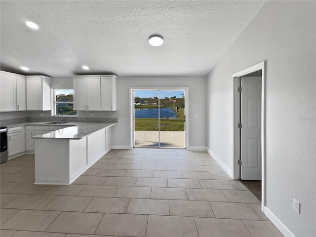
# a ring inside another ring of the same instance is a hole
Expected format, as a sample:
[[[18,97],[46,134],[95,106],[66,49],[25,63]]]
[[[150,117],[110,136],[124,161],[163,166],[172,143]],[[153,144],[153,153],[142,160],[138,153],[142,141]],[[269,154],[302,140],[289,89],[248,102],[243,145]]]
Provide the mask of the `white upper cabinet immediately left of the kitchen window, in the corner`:
[[[51,110],[50,78],[45,76],[27,76],[26,109]]]

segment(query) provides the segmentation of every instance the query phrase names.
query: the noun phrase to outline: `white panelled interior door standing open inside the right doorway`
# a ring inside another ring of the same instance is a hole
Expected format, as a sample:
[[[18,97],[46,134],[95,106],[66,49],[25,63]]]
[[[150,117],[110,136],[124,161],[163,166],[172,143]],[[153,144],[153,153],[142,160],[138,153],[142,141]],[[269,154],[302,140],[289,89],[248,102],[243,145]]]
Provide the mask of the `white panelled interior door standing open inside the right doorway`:
[[[241,77],[241,179],[261,180],[261,77]]]

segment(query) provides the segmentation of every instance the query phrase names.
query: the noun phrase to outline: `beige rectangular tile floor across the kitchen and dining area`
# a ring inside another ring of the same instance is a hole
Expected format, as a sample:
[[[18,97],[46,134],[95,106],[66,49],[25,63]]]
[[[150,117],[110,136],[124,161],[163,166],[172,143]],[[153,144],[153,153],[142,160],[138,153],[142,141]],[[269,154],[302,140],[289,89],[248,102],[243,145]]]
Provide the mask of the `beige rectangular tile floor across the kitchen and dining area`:
[[[34,155],[0,165],[1,237],[279,237],[206,152],[112,150],[72,185],[34,185]]]

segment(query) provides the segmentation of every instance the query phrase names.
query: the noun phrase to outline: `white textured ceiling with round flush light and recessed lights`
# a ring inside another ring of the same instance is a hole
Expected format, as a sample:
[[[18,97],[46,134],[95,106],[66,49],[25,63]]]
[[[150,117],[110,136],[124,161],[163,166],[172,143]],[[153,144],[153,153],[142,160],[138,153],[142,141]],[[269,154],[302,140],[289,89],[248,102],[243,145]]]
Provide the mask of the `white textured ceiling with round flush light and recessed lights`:
[[[206,75],[264,1],[0,1],[1,70],[51,77]],[[40,30],[24,24],[34,21]],[[159,34],[164,43],[148,43]],[[82,65],[90,71],[81,69]],[[19,68],[30,68],[28,73]]]

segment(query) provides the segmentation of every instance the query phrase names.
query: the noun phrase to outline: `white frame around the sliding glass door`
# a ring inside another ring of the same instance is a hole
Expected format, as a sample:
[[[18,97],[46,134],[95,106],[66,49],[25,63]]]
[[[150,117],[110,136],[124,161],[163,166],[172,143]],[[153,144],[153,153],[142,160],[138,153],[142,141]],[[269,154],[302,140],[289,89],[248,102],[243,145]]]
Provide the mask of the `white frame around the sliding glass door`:
[[[189,87],[129,87],[129,146],[134,148],[134,91],[155,91],[155,90],[163,90],[163,91],[184,91],[185,92],[185,115],[186,122],[184,123],[184,131],[185,131],[185,148],[187,149],[189,144]],[[166,148],[167,149],[167,148]],[[177,149],[177,148],[173,148]]]

